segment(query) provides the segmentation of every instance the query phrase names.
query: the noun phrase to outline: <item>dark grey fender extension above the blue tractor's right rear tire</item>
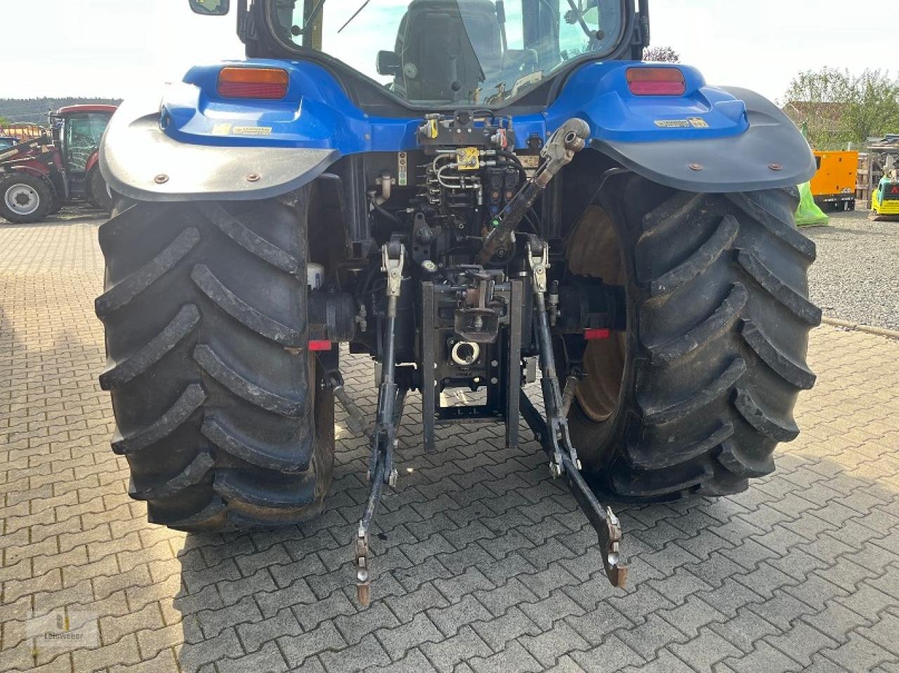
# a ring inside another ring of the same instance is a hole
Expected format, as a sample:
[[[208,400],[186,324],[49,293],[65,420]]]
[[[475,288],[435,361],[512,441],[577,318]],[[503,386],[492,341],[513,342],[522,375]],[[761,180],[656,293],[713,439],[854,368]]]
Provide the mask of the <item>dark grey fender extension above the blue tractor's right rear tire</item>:
[[[758,93],[721,88],[746,103],[750,126],[741,136],[656,143],[593,139],[591,146],[637,175],[676,190],[730,193],[811,180],[814,155],[787,115]]]

